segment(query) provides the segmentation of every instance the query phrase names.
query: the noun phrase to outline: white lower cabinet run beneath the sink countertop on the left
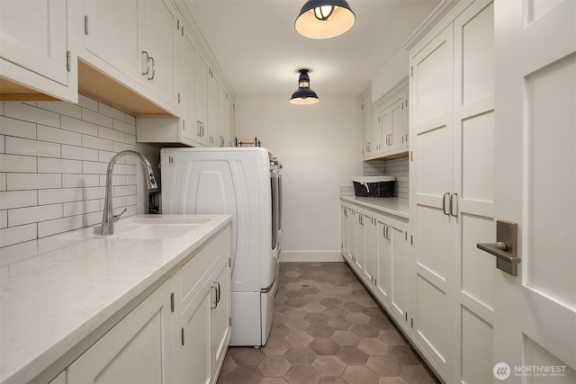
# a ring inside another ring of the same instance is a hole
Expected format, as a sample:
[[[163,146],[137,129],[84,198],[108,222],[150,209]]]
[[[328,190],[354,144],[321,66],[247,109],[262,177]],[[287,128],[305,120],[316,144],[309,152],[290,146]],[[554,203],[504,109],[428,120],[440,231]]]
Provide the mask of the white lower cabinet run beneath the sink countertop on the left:
[[[230,340],[229,244],[227,227],[50,384],[215,383]]]

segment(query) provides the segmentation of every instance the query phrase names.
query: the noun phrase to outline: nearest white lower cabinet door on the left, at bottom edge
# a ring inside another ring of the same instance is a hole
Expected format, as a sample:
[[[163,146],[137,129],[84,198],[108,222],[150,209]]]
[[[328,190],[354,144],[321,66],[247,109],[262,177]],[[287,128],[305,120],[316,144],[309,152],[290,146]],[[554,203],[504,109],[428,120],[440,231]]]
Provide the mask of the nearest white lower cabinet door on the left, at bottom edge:
[[[171,280],[67,368],[70,383],[171,383]]]

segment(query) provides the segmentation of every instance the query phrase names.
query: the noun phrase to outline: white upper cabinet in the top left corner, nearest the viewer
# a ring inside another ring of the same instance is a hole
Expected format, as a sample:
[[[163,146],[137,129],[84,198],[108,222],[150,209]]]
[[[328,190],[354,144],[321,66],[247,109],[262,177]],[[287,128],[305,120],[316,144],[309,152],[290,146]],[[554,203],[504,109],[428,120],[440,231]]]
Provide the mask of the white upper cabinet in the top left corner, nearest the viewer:
[[[76,53],[69,52],[67,12],[66,0],[0,1],[3,100],[46,94],[77,102],[76,76],[71,72],[76,71]]]

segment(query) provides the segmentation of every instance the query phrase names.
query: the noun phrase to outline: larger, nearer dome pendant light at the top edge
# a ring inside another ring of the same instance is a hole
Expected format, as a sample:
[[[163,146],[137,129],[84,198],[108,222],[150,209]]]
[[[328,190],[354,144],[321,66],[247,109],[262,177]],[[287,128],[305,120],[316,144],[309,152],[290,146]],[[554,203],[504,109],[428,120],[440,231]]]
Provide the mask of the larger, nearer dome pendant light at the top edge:
[[[346,0],[308,0],[294,22],[302,36],[329,39],[348,31],[356,22],[356,15]]]

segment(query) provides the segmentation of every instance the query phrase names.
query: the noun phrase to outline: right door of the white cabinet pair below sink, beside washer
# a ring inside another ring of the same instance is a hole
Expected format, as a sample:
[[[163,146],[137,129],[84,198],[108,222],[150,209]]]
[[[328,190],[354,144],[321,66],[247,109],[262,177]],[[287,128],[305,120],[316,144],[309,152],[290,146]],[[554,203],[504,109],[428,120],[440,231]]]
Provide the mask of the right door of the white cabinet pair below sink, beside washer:
[[[228,349],[231,330],[229,254],[222,257],[214,272],[212,286],[216,290],[215,304],[211,309],[211,376],[217,378]]]

